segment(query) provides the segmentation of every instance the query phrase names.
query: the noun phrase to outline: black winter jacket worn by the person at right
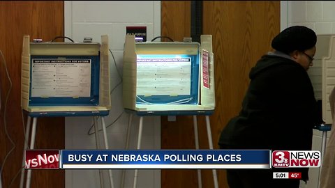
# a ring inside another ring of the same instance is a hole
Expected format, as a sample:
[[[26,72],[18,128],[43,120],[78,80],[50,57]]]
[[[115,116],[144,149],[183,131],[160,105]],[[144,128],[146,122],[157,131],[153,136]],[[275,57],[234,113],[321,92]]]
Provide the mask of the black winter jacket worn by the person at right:
[[[251,69],[249,78],[239,116],[221,132],[219,145],[230,149],[311,150],[313,127],[320,123],[320,112],[306,70],[289,56],[267,54]],[[304,180],[308,179],[308,169],[301,171]]]

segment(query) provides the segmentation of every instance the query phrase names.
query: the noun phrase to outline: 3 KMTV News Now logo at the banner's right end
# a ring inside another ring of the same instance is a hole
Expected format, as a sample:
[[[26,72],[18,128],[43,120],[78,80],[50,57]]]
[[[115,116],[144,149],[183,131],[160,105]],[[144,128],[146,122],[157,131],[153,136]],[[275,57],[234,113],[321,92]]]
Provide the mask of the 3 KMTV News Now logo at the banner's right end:
[[[320,167],[321,152],[311,151],[274,151],[272,152],[272,166],[275,168],[287,167]]]

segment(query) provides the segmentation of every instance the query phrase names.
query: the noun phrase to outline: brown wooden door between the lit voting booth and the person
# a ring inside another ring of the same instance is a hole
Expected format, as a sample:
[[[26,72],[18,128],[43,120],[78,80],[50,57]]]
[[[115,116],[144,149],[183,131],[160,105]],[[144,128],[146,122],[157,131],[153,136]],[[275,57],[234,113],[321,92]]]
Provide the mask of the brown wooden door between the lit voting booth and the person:
[[[181,41],[189,37],[191,1],[162,1],[162,36]],[[280,1],[203,1],[203,33],[213,37],[216,109],[211,120],[214,149],[230,118],[241,109],[249,83],[248,72],[271,50],[280,32]],[[161,118],[162,149],[194,149],[191,116],[169,122]],[[204,117],[198,117],[200,149],[208,149]],[[218,170],[219,187],[228,187],[225,170]],[[162,187],[198,187],[196,170],[162,170]],[[202,187],[214,187],[211,170],[202,170]]]

